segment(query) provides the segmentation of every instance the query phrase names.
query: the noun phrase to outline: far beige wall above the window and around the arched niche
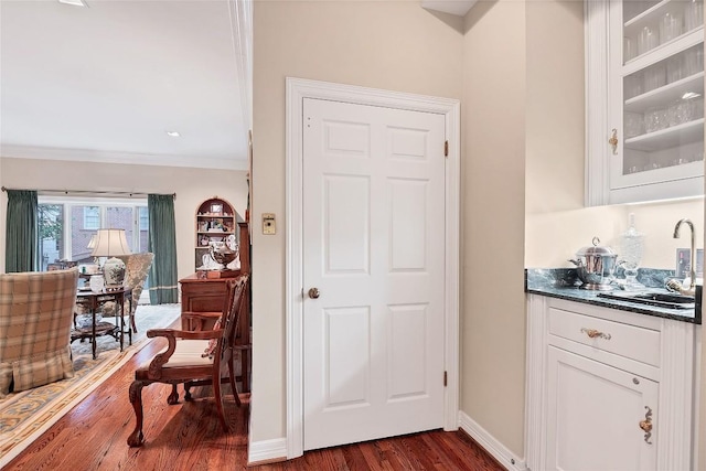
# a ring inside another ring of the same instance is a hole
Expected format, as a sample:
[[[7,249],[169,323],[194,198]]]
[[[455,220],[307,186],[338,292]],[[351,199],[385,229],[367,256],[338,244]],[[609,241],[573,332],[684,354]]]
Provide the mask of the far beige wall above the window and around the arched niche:
[[[57,160],[0,160],[0,184],[11,189],[68,189],[176,193],[174,217],[179,277],[194,272],[194,215],[201,202],[220,196],[245,214],[245,172],[173,167],[122,165]],[[4,271],[7,193],[0,194],[0,271]]]

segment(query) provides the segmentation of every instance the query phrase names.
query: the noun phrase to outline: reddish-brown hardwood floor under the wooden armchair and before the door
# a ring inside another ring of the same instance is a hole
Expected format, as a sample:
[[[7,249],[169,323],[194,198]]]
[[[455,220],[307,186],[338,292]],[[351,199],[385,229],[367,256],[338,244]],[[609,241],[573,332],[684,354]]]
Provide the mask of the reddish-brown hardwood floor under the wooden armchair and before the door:
[[[159,384],[142,392],[147,441],[141,448],[129,448],[126,440],[135,417],[128,386],[136,366],[161,344],[157,341],[142,349],[3,469],[504,470],[464,432],[441,430],[309,451],[295,460],[248,468],[247,395],[242,396],[240,408],[232,397],[226,400],[232,431],[225,433],[212,399],[199,397],[194,389],[196,400],[169,406],[170,387]]]

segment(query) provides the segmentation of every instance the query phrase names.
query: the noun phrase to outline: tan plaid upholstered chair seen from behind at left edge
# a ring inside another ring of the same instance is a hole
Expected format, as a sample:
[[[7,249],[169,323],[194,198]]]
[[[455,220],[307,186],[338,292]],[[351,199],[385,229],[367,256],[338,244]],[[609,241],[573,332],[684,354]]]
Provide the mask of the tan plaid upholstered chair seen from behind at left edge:
[[[0,274],[0,397],[72,377],[78,269]]]

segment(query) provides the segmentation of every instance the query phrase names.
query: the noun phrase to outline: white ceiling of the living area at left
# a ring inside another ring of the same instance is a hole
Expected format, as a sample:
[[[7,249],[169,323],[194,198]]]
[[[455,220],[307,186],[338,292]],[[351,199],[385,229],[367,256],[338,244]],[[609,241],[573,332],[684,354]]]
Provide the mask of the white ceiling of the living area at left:
[[[249,2],[86,2],[0,0],[0,154],[246,169]]]

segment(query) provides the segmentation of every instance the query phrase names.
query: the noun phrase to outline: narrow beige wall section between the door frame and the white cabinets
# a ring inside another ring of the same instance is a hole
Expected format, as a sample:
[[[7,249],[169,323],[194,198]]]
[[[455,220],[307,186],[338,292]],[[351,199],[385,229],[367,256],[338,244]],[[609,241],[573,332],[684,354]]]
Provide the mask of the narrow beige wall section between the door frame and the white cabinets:
[[[466,18],[461,410],[516,457],[524,428],[524,2]]]

